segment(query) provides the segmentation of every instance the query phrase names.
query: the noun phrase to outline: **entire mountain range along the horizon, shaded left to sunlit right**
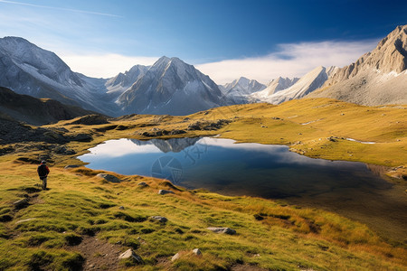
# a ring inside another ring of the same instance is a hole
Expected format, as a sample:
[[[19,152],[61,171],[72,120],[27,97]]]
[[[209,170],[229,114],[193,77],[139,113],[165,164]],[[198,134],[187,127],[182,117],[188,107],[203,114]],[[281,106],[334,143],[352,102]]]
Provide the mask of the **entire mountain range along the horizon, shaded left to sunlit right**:
[[[279,104],[294,98],[337,98],[364,105],[407,103],[407,25],[398,26],[344,68],[317,67],[302,78],[268,86],[240,78],[216,85],[194,66],[162,57],[109,79],[74,72],[52,51],[18,37],[0,39],[0,86],[34,98],[52,98],[112,117],[125,114],[187,115],[249,102]]]

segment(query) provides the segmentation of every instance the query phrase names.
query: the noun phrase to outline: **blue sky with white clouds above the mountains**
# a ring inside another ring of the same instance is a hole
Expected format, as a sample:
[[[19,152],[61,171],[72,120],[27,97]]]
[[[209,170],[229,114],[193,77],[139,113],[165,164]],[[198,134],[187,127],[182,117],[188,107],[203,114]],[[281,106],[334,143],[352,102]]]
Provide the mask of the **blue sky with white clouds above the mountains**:
[[[0,0],[0,36],[24,37],[89,76],[114,76],[166,55],[218,83],[239,76],[266,82],[355,61],[407,23],[406,3]]]

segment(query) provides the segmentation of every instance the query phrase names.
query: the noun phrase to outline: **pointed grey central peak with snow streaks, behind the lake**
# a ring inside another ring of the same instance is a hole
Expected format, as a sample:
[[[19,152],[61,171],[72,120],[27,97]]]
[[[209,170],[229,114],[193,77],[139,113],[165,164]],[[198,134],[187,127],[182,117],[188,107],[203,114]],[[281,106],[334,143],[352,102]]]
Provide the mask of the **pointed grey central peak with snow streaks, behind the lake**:
[[[223,105],[208,76],[178,58],[162,57],[118,97],[124,114],[186,115]]]

